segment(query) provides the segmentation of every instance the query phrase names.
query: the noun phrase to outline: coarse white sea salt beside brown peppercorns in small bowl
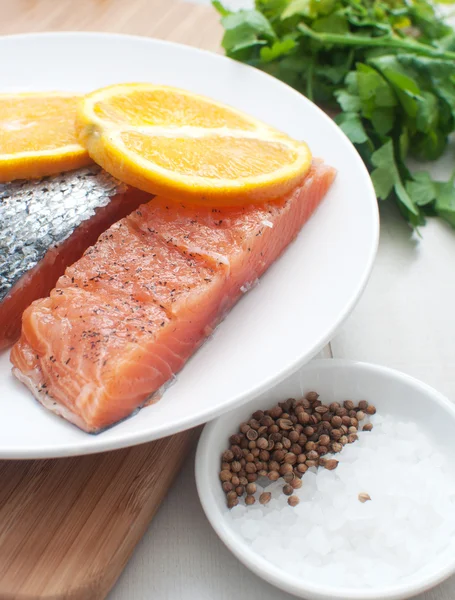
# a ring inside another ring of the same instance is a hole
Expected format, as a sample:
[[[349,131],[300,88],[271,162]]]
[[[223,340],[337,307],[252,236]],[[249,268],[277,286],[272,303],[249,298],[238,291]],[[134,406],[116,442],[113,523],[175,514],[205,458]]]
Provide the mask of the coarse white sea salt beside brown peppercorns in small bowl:
[[[258,480],[254,505],[226,509],[232,528],[275,566],[337,588],[402,583],[455,551],[455,472],[446,456],[415,423],[388,415],[371,422],[336,455],[337,469],[305,473],[295,508],[282,479]],[[264,490],[272,493],[265,506]],[[360,502],[361,493],[371,500]]]

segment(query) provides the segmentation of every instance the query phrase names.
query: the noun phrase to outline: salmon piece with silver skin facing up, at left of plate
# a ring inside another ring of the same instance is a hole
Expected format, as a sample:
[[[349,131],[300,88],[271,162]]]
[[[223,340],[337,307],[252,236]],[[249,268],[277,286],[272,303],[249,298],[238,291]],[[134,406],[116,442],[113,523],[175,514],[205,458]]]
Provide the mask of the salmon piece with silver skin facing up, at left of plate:
[[[0,350],[20,336],[24,310],[65,268],[150,195],[91,166],[0,184]]]

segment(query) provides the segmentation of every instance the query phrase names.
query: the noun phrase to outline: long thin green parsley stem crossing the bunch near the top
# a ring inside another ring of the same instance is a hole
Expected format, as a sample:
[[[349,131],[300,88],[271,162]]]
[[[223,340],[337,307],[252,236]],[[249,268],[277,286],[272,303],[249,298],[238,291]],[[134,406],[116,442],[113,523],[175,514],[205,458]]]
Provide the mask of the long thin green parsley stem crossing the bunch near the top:
[[[380,46],[381,48],[389,47],[399,50],[409,50],[410,52],[416,52],[418,54],[422,54],[423,56],[455,60],[455,52],[433,48],[432,46],[427,46],[426,44],[421,44],[420,42],[416,42],[414,40],[405,40],[402,38],[393,38],[388,36],[368,37],[362,35],[323,33],[310,29],[304,23],[300,23],[297,28],[304,35],[307,35],[314,40],[318,40],[322,44],[336,44],[338,46],[362,46],[363,48],[367,46]]]

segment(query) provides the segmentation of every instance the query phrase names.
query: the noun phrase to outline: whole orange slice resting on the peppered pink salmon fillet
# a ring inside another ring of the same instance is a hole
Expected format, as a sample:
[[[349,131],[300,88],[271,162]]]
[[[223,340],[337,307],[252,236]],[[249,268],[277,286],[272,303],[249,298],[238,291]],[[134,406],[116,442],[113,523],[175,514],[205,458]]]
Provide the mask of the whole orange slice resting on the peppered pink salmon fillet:
[[[177,88],[130,83],[83,98],[79,141],[111,175],[195,204],[279,198],[308,172],[311,153],[234,108]]]

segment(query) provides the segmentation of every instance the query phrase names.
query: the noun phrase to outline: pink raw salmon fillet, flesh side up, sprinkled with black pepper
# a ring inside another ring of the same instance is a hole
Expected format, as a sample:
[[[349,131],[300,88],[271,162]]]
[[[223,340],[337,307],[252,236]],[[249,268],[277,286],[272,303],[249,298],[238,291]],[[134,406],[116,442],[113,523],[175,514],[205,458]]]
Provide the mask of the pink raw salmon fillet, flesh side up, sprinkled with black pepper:
[[[154,198],[101,235],[24,313],[14,374],[88,432],[127,417],[280,256],[335,176],[315,161],[278,203],[191,209]]]

